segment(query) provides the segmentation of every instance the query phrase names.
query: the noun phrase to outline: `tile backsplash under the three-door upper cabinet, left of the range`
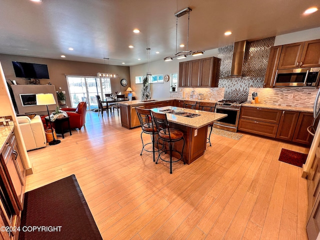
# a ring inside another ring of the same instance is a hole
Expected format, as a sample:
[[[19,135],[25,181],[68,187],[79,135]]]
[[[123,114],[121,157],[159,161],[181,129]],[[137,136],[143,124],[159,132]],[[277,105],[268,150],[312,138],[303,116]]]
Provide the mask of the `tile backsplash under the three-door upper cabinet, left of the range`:
[[[223,99],[224,87],[180,87],[176,92],[170,92],[170,97],[181,98],[182,91],[185,92],[185,99],[190,99],[190,93],[194,90],[196,99],[199,93],[203,94],[204,99],[219,101]]]

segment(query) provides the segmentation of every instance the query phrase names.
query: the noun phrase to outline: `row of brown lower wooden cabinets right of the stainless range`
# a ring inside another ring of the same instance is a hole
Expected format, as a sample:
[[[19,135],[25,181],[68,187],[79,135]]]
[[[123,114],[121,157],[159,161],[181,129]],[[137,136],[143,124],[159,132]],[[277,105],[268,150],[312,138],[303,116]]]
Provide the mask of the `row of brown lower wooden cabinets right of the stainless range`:
[[[306,128],[312,125],[311,112],[241,106],[238,130],[310,145],[312,136]]]

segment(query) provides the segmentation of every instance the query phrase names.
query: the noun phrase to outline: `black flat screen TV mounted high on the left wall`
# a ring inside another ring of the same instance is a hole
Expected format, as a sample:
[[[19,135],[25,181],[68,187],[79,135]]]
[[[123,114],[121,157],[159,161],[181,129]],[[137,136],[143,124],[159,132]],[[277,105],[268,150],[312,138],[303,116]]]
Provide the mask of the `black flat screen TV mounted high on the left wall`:
[[[16,77],[49,79],[46,64],[12,61],[12,65]]]

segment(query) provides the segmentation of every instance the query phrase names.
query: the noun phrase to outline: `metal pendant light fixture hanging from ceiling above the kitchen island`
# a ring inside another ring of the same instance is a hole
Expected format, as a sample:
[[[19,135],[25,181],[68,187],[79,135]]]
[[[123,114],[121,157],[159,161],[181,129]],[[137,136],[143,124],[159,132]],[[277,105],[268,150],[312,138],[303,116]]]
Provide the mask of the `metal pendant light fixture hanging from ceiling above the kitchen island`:
[[[202,50],[196,50],[196,51],[188,50],[190,11],[192,11],[192,9],[190,7],[186,7],[186,8],[184,8],[174,14],[175,15],[175,53],[173,54],[173,56],[164,57],[163,58],[164,61],[171,61],[171,60],[173,60],[173,58],[182,59],[182,58],[185,58],[187,55],[198,56],[198,55],[203,54],[204,51],[202,51]],[[177,52],[176,46],[177,46],[178,17],[183,16],[186,13],[188,13],[188,30],[187,30],[187,35],[186,35],[186,51],[178,51]]]

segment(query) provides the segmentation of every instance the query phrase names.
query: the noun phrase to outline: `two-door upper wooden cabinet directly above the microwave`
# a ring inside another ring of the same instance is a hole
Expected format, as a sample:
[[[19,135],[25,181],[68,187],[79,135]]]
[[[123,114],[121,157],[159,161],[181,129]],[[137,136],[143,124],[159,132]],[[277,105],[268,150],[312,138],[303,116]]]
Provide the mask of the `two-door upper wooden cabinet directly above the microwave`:
[[[282,45],[278,69],[320,66],[320,39]]]

